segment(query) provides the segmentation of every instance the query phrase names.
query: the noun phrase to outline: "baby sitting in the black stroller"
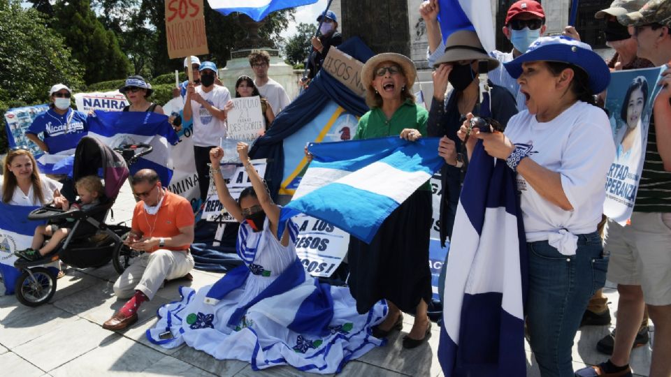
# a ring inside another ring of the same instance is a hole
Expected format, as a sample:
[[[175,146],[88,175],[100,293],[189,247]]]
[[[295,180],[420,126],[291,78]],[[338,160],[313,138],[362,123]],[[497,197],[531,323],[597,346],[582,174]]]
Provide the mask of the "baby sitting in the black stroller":
[[[87,175],[75,182],[75,189],[79,195],[78,202],[74,202],[70,209],[79,209],[85,211],[100,204],[103,197],[103,182],[95,175]],[[64,210],[68,210],[65,205]],[[65,219],[60,223],[50,223],[35,228],[33,243],[29,249],[17,250],[15,256],[25,260],[33,261],[43,258],[52,251],[55,251],[59,243],[68,236],[72,226],[73,219]],[[50,237],[50,241],[44,244],[45,237]],[[42,246],[42,247],[40,247]]]

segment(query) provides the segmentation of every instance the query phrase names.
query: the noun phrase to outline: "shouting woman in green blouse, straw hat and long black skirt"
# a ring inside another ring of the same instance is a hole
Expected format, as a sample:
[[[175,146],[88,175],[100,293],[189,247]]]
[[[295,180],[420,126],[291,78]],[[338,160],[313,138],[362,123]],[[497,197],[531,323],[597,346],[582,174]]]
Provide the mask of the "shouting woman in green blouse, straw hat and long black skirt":
[[[394,53],[375,55],[361,76],[370,111],[359,120],[354,138],[399,135],[415,141],[426,135],[428,112],[414,103],[417,70],[410,59]],[[432,296],[428,267],[432,221],[427,182],[389,215],[370,244],[354,237],[349,241],[349,289],[356,309],[366,313],[375,302],[387,300],[389,315],[373,331],[378,338],[401,330],[402,312],[414,313],[412,330],[403,338],[405,348],[419,346],[431,332],[426,309]]]

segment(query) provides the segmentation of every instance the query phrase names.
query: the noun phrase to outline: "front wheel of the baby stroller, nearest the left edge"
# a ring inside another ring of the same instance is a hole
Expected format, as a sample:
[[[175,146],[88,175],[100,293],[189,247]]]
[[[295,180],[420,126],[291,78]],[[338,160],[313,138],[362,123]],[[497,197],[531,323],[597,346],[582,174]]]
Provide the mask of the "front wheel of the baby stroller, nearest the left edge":
[[[17,279],[16,298],[26,306],[39,306],[51,300],[56,293],[56,276],[45,267],[24,269]]]

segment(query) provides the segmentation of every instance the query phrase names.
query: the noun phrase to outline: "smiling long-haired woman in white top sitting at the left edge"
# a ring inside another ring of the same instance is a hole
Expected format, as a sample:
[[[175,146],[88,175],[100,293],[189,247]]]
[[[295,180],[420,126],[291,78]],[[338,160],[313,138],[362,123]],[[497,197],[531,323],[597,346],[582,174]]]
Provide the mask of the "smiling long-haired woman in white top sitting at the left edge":
[[[9,151],[3,163],[0,191],[2,202],[9,205],[46,205],[62,207],[67,202],[59,182],[41,175],[35,157],[25,149]]]

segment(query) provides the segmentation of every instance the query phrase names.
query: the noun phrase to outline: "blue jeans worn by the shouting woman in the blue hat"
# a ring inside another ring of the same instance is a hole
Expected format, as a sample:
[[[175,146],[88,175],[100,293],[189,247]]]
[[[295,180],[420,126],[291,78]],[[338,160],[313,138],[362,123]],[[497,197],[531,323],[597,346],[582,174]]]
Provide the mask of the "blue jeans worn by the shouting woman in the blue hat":
[[[571,348],[589,297],[603,288],[608,257],[598,232],[578,235],[574,256],[547,241],[528,242],[527,325],[540,374],[572,377]]]

